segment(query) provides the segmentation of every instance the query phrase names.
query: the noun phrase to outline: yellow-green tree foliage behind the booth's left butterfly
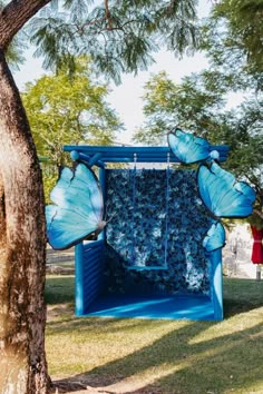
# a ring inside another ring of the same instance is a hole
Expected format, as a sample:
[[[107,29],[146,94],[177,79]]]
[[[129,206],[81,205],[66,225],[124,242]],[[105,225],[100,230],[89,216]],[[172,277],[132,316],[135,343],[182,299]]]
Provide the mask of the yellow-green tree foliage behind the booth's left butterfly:
[[[123,126],[106,102],[108,87],[92,80],[86,57],[76,60],[70,80],[66,68],[28,83],[22,93],[32,135],[42,162],[46,196],[65,164],[64,145],[110,145]]]

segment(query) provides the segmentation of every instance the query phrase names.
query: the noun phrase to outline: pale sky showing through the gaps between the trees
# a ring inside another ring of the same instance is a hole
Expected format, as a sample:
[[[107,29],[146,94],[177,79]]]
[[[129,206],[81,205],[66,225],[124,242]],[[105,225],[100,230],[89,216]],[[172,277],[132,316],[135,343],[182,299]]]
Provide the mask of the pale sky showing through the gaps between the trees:
[[[210,12],[211,1],[201,0],[198,14],[201,18],[207,17]],[[20,66],[20,70],[14,72],[14,80],[20,90],[23,90],[25,83],[40,78],[45,71],[41,68],[41,59],[33,57],[35,48],[29,48],[25,58],[27,61]],[[150,75],[165,70],[168,77],[175,82],[179,82],[182,77],[188,76],[192,72],[198,72],[208,66],[207,59],[203,53],[195,53],[193,57],[184,57],[183,59],[165,50],[159,51],[155,56],[155,63],[149,67],[148,71],[140,71],[137,76],[124,75],[121,85],[115,86],[110,83],[110,93],[107,101],[115,109],[125,124],[125,130],[120,131],[116,141],[121,144],[132,144],[132,137],[136,128],[143,125],[143,93],[144,85],[150,78]],[[237,105],[242,97],[232,95],[228,98],[228,108]]]

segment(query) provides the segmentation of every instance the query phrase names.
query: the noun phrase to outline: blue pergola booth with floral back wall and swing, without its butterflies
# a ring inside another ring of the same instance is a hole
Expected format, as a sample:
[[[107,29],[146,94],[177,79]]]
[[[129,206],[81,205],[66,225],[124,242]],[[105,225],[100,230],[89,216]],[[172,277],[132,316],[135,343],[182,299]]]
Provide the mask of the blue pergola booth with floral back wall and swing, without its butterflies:
[[[109,220],[96,240],[76,246],[76,315],[221,321],[222,249],[202,246],[212,218],[196,171],[174,169],[178,160],[168,147],[65,150],[99,168]],[[226,160],[227,146],[211,150]],[[108,169],[110,162],[132,166]],[[167,168],[138,169],[138,162]]]

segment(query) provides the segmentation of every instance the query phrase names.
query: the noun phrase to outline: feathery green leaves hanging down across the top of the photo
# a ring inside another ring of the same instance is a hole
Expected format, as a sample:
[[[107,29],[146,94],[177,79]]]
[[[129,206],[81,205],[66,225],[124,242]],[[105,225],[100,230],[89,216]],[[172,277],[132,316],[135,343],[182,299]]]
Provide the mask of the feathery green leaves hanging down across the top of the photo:
[[[67,65],[88,55],[98,72],[120,81],[121,72],[137,72],[165,46],[176,55],[193,51],[198,41],[196,0],[178,1],[53,1],[27,27],[46,68]],[[57,9],[57,12],[55,11]]]

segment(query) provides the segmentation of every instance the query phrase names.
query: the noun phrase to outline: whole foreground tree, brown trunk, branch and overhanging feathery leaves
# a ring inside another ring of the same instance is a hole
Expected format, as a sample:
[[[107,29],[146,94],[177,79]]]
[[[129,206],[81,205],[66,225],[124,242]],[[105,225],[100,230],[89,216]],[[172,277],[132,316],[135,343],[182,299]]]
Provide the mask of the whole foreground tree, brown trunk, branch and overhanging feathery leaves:
[[[3,393],[47,393],[43,303],[46,229],[37,150],[6,61],[16,35],[50,0],[0,4],[0,384]],[[195,0],[51,2],[28,24],[46,67],[76,68],[89,55],[98,72],[119,81],[166,45],[175,53],[196,46]],[[59,6],[59,7],[58,7]]]

